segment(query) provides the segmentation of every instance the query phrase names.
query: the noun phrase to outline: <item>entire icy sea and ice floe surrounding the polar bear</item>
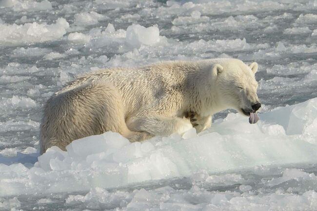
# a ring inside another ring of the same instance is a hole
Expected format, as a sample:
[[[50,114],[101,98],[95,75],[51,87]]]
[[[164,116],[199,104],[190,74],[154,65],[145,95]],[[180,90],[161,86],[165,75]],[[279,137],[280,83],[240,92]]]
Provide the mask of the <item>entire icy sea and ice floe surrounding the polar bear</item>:
[[[0,210],[317,210],[317,1],[0,1]],[[261,120],[39,157],[43,103],[90,70],[257,61]]]

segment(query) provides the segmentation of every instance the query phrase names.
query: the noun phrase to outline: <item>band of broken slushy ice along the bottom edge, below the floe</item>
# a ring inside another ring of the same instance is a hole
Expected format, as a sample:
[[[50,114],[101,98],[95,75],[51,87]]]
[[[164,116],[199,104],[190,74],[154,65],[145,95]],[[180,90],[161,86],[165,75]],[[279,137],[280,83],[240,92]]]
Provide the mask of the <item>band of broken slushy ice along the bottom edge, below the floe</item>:
[[[243,191],[213,192],[193,186],[190,190],[178,190],[170,186],[164,186],[152,190],[144,188],[134,192],[114,191],[107,192],[104,189],[94,188],[85,195],[69,195],[66,199],[68,205],[77,205],[82,209],[113,209],[122,210],[217,210],[217,211],[276,211],[296,210],[298,207],[307,210],[317,208],[315,191],[304,191],[301,194],[293,194],[277,190],[266,193],[264,190],[255,194],[249,185],[241,185]],[[248,191],[247,191],[248,190]],[[250,204],[252,206],[250,206]]]

